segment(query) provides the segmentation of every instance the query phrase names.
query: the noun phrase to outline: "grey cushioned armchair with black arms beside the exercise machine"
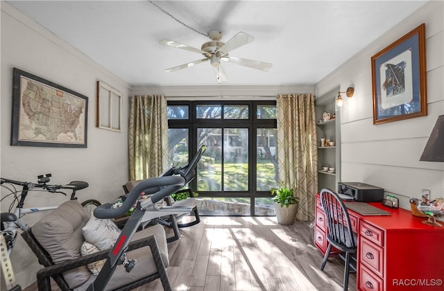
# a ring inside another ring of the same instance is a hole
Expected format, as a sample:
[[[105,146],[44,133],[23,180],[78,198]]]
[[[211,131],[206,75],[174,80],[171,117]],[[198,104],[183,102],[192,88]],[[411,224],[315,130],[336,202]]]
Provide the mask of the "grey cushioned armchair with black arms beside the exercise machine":
[[[96,279],[94,265],[105,259],[110,249],[80,254],[85,243],[83,229],[90,218],[77,200],[70,200],[46,215],[22,236],[44,267],[37,272],[39,291],[51,290],[50,278],[61,290],[86,290]],[[134,233],[128,257],[137,260],[131,272],[119,265],[105,290],[130,290],[161,279],[171,290],[165,268],[169,266],[167,238],[163,227],[154,225]],[[96,270],[97,271],[97,270]]]

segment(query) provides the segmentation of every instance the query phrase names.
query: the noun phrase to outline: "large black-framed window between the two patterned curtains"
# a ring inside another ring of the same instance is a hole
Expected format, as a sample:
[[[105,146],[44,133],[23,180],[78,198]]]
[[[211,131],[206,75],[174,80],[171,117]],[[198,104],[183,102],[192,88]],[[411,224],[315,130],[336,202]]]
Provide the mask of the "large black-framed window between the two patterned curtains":
[[[170,158],[183,166],[200,145],[207,150],[191,187],[200,213],[274,215],[270,188],[277,184],[274,101],[171,101]]]

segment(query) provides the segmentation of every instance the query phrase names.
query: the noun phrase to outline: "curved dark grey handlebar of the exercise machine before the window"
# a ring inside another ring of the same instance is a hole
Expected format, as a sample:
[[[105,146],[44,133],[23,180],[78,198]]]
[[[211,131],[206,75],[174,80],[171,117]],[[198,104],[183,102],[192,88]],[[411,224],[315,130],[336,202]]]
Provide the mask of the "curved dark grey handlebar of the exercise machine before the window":
[[[94,216],[100,219],[117,218],[127,213],[131,207],[134,206],[140,195],[151,195],[148,200],[151,200],[147,206],[151,206],[156,202],[159,202],[164,197],[175,193],[182,188],[186,179],[181,176],[167,176],[167,177],[155,177],[148,178],[140,182],[133,188],[133,191],[127,194],[126,200],[122,206],[112,209],[111,203],[106,203],[98,206],[94,209]],[[145,204],[145,203],[144,203]]]

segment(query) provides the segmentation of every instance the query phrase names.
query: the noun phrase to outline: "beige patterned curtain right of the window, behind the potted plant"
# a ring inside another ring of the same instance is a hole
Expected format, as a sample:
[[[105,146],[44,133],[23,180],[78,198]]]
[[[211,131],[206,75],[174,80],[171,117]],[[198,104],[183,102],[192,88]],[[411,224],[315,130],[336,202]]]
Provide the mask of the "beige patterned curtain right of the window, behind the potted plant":
[[[296,220],[314,219],[318,189],[316,114],[311,94],[280,94],[278,109],[279,180],[300,198]]]

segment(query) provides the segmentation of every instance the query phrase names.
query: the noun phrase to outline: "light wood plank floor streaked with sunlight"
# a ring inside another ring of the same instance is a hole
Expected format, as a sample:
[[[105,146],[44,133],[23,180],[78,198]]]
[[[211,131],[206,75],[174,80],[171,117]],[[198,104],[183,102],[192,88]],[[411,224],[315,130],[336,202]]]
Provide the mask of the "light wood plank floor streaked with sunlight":
[[[330,258],[319,269],[322,256],[309,222],[282,226],[274,217],[201,217],[180,233],[169,243],[167,273],[175,291],[342,290],[343,261]],[[31,285],[24,291],[35,290]],[[163,289],[157,280],[137,289],[144,290]],[[355,274],[349,290],[356,290]]]

